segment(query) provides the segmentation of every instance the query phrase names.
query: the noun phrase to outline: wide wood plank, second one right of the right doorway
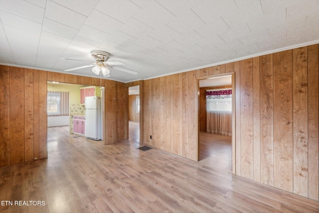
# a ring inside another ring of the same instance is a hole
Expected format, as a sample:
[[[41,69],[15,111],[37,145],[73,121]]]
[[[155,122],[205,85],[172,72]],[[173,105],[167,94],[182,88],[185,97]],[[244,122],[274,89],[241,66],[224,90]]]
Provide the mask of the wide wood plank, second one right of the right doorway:
[[[254,179],[252,64],[252,58],[240,61],[240,174],[250,180]]]

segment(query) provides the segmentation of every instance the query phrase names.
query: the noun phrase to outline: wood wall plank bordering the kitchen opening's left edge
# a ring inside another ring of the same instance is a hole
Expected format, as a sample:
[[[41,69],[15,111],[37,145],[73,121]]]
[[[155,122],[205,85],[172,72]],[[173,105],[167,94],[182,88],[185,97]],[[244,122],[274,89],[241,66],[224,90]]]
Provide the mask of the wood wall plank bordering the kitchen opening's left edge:
[[[47,158],[47,75],[39,70],[39,159]]]

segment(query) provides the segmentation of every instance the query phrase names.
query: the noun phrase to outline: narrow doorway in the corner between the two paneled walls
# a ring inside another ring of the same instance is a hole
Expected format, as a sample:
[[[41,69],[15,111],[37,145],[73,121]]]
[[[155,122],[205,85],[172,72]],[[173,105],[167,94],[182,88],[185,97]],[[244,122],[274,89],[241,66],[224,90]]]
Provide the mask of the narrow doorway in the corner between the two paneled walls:
[[[140,147],[140,113],[141,113],[141,99],[140,99],[140,85],[129,87],[129,101],[128,101],[128,120],[129,120],[129,140],[133,146]]]

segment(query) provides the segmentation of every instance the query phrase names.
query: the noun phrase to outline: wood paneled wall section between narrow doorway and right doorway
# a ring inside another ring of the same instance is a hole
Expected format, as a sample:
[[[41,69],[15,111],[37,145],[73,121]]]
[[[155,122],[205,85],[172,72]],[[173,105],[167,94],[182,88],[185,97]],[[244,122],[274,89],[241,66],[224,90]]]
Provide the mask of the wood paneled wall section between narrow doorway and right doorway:
[[[197,161],[196,90],[195,71],[144,81],[145,144]]]

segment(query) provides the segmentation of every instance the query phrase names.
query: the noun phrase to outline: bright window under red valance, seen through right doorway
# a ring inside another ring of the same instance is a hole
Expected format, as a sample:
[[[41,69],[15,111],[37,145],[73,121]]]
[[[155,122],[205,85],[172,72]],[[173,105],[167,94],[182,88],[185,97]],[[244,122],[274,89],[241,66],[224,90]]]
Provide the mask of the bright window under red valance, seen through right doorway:
[[[231,113],[232,111],[231,89],[207,90],[206,110],[207,112]]]

